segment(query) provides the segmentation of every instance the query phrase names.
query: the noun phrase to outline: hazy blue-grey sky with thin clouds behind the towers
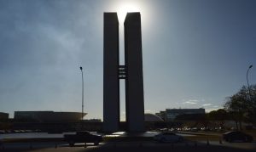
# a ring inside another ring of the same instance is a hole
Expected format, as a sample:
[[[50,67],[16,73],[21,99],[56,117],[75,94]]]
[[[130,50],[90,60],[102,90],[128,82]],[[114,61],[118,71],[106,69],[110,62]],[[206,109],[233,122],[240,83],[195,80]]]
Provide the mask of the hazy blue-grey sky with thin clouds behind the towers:
[[[256,84],[253,0],[1,0],[0,112],[81,111],[102,119],[103,13],[119,14],[124,65],[126,12],[142,18],[144,108],[222,108]],[[125,82],[120,83],[125,120]]]

